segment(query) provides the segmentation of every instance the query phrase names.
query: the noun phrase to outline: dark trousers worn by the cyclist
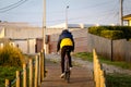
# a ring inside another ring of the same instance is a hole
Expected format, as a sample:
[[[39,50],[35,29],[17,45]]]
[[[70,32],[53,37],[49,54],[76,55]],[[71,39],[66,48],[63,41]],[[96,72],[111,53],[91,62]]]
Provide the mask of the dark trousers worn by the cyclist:
[[[64,73],[64,57],[66,57],[66,52],[68,53],[68,58],[69,58],[69,66],[72,67],[72,60],[71,60],[71,54],[70,54],[71,50],[72,50],[72,46],[64,46],[61,49],[61,71],[62,71],[62,73]]]

